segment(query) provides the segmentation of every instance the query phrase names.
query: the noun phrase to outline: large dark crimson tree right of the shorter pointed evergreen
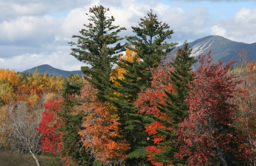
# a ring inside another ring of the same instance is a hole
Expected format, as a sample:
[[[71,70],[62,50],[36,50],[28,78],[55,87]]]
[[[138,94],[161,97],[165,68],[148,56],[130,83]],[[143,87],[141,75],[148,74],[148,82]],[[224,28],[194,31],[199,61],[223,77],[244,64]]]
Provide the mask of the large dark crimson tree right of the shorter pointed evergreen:
[[[241,81],[227,75],[234,62],[211,64],[210,52],[199,56],[198,74],[188,84],[189,117],[176,132],[177,157],[188,157],[187,165],[245,165],[246,160],[252,161],[251,150],[240,146],[245,138],[232,127],[237,106],[229,102]]]

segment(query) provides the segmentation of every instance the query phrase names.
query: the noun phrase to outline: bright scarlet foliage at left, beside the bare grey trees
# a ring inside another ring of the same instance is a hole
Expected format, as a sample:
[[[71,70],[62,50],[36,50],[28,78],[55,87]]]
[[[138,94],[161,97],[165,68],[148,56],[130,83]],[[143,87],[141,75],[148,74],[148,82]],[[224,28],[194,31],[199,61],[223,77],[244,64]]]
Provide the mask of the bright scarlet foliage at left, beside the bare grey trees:
[[[41,140],[42,149],[44,152],[52,152],[53,154],[62,151],[62,135],[63,132],[57,129],[63,125],[61,117],[57,114],[60,112],[61,103],[63,98],[60,97],[58,100],[51,98],[44,103],[42,122],[39,124],[37,130],[43,133],[44,138]]]

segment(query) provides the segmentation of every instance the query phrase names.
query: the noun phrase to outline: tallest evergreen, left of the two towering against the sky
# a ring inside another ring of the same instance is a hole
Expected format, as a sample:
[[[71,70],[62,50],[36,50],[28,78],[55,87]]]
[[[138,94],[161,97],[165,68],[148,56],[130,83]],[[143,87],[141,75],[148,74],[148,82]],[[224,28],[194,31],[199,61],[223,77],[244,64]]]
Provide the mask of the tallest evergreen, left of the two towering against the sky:
[[[102,5],[90,8],[92,15],[89,15],[88,20],[91,23],[84,24],[86,29],[80,31],[83,36],[73,35],[72,38],[78,38],[77,43],[69,42],[71,46],[77,47],[72,48],[70,54],[89,65],[81,67],[81,70],[87,75],[85,79],[97,87],[99,98],[103,101],[107,100],[106,95],[110,93],[109,74],[116,63],[116,54],[125,50],[120,42],[116,44],[123,39],[117,34],[125,27],[114,26],[115,18],[109,18],[107,11],[109,8]]]

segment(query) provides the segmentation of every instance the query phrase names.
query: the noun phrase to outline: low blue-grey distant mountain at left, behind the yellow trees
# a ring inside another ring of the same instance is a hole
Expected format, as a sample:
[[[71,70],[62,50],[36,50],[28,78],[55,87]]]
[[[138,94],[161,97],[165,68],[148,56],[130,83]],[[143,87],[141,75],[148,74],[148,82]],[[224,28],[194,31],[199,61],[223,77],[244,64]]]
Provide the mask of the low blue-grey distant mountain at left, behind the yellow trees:
[[[30,72],[30,73],[34,73],[36,70],[36,67],[33,67],[31,69],[25,70],[23,72]],[[83,75],[83,72],[81,70],[76,70],[76,71],[65,71],[65,70],[60,70],[60,69],[56,69],[48,64],[43,64],[38,66],[38,71],[39,73],[43,74],[43,73],[48,73],[48,75],[53,75],[53,76],[60,76],[62,75],[63,78],[68,77],[70,74],[78,74],[78,75]]]

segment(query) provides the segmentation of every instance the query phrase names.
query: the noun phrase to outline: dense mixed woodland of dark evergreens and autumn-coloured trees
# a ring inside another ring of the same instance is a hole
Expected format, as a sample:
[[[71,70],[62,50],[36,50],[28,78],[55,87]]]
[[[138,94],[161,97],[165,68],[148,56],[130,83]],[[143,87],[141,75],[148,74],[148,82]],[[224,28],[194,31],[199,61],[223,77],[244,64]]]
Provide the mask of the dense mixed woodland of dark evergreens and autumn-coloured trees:
[[[211,50],[195,59],[185,41],[169,55],[174,32],[152,10],[125,37],[108,11],[90,8],[90,23],[69,42],[86,76],[0,69],[0,149],[31,154],[38,166],[50,153],[65,166],[255,165],[248,50],[212,63]]]

